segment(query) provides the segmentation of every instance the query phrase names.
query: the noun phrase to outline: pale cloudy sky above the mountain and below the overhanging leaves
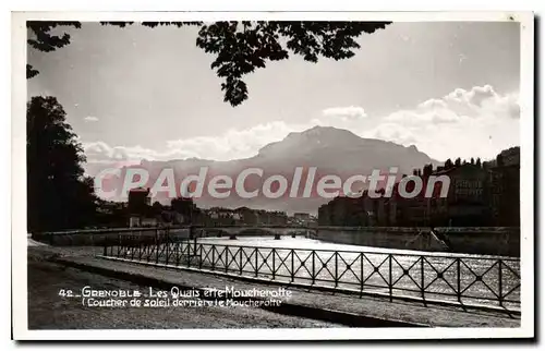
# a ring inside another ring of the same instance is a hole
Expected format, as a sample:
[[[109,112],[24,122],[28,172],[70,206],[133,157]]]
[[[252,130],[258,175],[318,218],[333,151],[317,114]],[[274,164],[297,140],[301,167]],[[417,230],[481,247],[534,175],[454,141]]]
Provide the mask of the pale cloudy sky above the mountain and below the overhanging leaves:
[[[250,97],[234,108],[195,27],[64,31],[69,46],[28,49],[40,74],[27,95],[58,98],[88,162],[245,158],[314,125],[439,161],[520,144],[518,23],[393,23],[362,35],[349,60],[268,62],[245,77]]]

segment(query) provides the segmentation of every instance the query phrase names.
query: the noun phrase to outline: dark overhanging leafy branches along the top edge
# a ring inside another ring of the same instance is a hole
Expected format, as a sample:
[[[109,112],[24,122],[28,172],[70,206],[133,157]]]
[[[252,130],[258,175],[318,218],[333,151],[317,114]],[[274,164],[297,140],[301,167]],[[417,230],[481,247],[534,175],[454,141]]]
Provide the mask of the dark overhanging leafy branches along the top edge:
[[[101,22],[104,25],[125,27],[133,22]],[[201,26],[196,46],[215,55],[211,69],[223,78],[221,90],[223,101],[231,106],[247,99],[247,86],[243,77],[263,69],[267,62],[288,59],[289,52],[300,55],[305,61],[317,62],[319,57],[343,60],[352,58],[360,48],[355,38],[363,33],[372,34],[385,28],[390,22],[277,22],[277,21],[231,21],[203,24],[202,22],[143,22],[147,27],[160,25]],[[74,26],[78,22],[27,22],[36,38],[28,44],[41,51],[51,51],[70,43],[70,35],[52,36],[56,26]],[[27,77],[38,71],[27,65]]]

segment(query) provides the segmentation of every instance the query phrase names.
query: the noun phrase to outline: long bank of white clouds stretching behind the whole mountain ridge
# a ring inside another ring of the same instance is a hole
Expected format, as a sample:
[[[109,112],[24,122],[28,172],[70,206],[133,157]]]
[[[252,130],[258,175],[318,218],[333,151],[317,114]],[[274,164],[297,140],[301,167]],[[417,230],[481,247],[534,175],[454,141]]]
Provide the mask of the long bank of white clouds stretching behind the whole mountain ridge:
[[[518,94],[499,94],[492,86],[458,88],[434,97],[412,109],[368,117],[361,107],[334,107],[305,123],[283,121],[231,129],[222,135],[167,141],[161,150],[136,146],[109,146],[104,142],[84,143],[88,161],[138,161],[190,157],[230,160],[247,158],[269,143],[291,132],[316,124],[347,129],[362,137],[379,138],[416,147],[438,160],[446,158],[494,157],[501,149],[518,145]]]

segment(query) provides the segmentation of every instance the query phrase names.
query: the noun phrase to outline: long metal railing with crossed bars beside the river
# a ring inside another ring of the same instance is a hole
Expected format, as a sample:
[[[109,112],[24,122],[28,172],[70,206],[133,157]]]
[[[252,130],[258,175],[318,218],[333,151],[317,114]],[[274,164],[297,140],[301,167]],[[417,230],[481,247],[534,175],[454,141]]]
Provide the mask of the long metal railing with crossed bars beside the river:
[[[179,241],[105,245],[104,256],[424,303],[520,312],[520,259],[242,246]]]

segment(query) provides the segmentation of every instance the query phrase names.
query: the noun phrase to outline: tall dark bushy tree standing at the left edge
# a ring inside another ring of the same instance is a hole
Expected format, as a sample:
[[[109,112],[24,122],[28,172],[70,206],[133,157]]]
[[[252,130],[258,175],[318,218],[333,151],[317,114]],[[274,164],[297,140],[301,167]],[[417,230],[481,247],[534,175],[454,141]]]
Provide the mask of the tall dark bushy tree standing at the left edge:
[[[93,180],[84,177],[82,146],[55,97],[33,97],[26,110],[27,226],[29,232],[94,222]]]

